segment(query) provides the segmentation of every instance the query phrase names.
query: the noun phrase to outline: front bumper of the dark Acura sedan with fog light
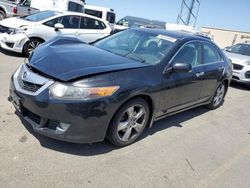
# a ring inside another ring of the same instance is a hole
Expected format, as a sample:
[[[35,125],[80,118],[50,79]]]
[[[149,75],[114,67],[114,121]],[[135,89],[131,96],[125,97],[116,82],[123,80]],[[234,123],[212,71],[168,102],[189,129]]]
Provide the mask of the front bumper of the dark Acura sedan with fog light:
[[[50,98],[48,87],[31,95],[30,91],[22,91],[18,83],[18,79],[22,79],[22,71],[18,71],[11,79],[9,100],[35,132],[74,143],[104,140],[111,118],[118,108],[116,100],[55,100]]]

